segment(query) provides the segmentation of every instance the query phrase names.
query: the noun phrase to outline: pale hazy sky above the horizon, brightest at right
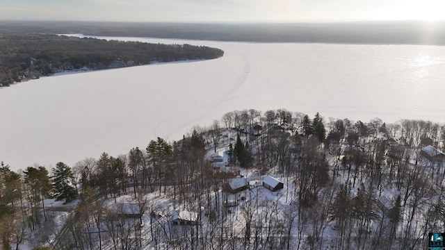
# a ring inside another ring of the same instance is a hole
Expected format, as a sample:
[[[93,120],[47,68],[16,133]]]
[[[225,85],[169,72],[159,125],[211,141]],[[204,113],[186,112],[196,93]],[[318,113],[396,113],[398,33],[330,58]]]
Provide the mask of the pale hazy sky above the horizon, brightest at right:
[[[444,0],[1,0],[0,19],[347,22],[445,19]]]

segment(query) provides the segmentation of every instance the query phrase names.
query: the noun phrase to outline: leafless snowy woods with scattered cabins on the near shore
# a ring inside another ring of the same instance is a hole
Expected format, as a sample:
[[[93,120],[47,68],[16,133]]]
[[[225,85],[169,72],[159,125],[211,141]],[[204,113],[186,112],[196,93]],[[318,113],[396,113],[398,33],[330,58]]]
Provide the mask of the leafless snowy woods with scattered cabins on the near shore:
[[[53,249],[424,249],[428,233],[445,230],[444,140],[444,124],[421,120],[232,111],[182,140],[154,138],[126,155],[19,173],[2,163],[0,240],[3,249],[25,242]],[[282,189],[266,189],[264,176],[282,181]],[[63,207],[42,203],[49,197],[75,201],[62,225]]]

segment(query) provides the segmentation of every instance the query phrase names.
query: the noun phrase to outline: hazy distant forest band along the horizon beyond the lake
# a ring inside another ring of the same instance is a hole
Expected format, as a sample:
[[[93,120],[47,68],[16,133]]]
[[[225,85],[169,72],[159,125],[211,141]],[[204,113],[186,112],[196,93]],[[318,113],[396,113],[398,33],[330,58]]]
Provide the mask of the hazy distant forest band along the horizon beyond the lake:
[[[291,24],[0,22],[0,32],[6,31],[241,42],[445,44],[445,22],[420,21]]]

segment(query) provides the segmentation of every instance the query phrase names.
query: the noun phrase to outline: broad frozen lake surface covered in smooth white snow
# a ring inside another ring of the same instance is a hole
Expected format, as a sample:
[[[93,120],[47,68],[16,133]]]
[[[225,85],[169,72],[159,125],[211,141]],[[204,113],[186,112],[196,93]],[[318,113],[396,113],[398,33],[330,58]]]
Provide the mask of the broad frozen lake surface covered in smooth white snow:
[[[108,38],[109,39],[109,38]],[[218,47],[223,58],[40,78],[0,89],[0,160],[54,167],[179,140],[232,110],[445,122],[445,47],[113,38]]]

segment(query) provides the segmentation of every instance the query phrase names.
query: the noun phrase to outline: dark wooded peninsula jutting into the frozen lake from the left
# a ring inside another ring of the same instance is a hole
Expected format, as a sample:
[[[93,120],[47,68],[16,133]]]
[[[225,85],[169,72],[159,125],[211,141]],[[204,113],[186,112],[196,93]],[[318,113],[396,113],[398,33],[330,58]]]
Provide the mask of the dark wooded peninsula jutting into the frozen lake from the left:
[[[79,69],[213,59],[224,51],[189,44],[148,44],[59,35],[0,33],[0,86]]]

